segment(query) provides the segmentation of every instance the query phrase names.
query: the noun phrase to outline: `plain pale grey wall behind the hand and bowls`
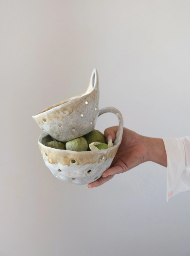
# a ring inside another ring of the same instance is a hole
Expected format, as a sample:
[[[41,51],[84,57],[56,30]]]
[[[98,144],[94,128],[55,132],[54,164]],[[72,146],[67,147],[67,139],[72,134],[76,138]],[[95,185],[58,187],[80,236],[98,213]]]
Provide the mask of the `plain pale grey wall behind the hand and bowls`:
[[[32,115],[85,92],[93,68],[125,127],[190,136],[190,1],[0,0],[0,255],[190,255],[190,193],[166,202],[166,168],[87,189],[45,166]]]

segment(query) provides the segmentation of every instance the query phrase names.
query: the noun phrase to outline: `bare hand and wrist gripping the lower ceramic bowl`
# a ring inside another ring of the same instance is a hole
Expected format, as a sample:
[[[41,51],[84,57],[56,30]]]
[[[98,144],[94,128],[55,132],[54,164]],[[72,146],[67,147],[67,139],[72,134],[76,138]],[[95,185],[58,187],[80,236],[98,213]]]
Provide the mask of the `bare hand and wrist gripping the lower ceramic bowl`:
[[[118,126],[113,126],[104,131],[107,141],[109,139],[115,140],[117,130]],[[98,180],[88,184],[87,187],[100,186],[112,179],[115,174],[126,172],[146,161],[153,161],[167,166],[167,155],[163,140],[145,137],[123,128],[122,142],[110,168]]]

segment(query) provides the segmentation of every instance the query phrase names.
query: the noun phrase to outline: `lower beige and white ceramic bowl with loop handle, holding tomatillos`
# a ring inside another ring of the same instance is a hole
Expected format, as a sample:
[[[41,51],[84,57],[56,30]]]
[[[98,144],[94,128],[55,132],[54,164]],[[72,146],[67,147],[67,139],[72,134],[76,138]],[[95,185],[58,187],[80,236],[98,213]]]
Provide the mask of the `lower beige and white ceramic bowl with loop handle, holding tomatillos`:
[[[46,142],[52,140],[51,136],[47,133],[41,134],[38,145],[45,165],[51,170],[55,177],[72,184],[89,184],[100,178],[102,173],[110,167],[121,144],[123,117],[120,111],[113,107],[101,109],[99,116],[106,112],[116,114],[119,120],[115,146],[112,148],[85,152],[54,149],[44,145]],[[72,160],[75,160],[75,163],[72,163]]]

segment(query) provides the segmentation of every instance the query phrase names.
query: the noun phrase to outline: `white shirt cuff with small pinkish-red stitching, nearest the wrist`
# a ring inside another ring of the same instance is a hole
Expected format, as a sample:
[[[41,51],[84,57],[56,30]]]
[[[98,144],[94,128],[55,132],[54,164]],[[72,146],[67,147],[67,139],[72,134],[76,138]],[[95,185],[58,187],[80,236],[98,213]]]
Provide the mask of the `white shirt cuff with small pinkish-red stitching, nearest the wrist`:
[[[181,192],[188,191],[182,180],[182,173],[186,166],[186,154],[183,139],[163,138],[167,153],[167,202],[169,198]]]

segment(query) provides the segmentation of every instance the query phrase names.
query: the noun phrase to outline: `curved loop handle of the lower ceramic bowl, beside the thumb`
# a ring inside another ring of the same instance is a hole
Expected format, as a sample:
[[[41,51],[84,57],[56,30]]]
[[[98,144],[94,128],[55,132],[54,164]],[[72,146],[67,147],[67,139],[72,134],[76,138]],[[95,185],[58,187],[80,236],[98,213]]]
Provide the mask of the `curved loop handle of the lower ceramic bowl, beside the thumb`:
[[[106,107],[106,108],[102,108],[99,110],[99,116],[104,114],[104,113],[107,113],[107,112],[111,112],[111,113],[114,113],[118,120],[119,120],[119,128],[118,128],[118,131],[116,132],[115,134],[115,144],[118,143],[118,141],[122,140],[122,135],[123,135],[123,116],[121,114],[121,112],[116,109],[116,108],[113,108],[113,107]]]

